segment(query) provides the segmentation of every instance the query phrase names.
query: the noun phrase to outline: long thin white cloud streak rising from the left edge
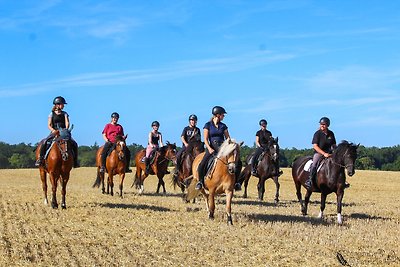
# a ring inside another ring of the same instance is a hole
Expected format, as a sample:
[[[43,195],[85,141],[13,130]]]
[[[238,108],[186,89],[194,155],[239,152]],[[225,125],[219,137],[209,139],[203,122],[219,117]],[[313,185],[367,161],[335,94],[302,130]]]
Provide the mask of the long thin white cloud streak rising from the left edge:
[[[109,85],[127,85],[143,82],[158,82],[182,77],[226,73],[251,69],[293,59],[296,55],[256,52],[236,57],[214,58],[193,61],[180,61],[170,66],[146,69],[123,70],[117,72],[86,73],[59,80],[23,84],[13,87],[0,87],[0,97],[33,95],[43,91],[68,87],[101,87]]]

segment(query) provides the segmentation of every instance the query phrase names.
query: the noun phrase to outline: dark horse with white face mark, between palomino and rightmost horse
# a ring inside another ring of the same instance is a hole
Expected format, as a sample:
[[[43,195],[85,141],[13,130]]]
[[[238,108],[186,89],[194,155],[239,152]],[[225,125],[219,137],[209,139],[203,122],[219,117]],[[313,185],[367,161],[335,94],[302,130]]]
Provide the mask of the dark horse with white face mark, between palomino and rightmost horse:
[[[278,144],[278,137],[269,139],[269,142],[266,146],[266,150],[261,154],[262,158],[258,163],[257,166],[257,173],[258,173],[258,199],[264,199],[265,193],[265,181],[268,178],[272,178],[275,183],[276,192],[275,192],[275,203],[279,202],[279,188],[280,184],[278,181],[279,177],[279,144]],[[254,157],[254,153],[250,155],[250,157],[246,160],[247,165],[240,173],[238,182],[242,184],[244,182],[244,193],[243,198],[247,198],[247,186],[249,184],[249,179],[251,176],[251,164],[250,160],[251,157]]]

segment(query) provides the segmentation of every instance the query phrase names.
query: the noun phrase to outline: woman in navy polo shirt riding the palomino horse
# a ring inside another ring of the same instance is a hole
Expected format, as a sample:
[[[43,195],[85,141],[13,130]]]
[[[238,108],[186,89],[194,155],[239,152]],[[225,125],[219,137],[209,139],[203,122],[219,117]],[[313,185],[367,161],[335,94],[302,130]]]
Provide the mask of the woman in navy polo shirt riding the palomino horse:
[[[204,186],[204,176],[206,175],[205,166],[212,155],[216,154],[222,143],[230,138],[228,126],[222,122],[226,111],[221,106],[215,106],[212,109],[212,117],[203,127],[204,143],[206,150],[203,159],[198,166],[199,182],[196,184],[196,190],[200,190]],[[235,184],[236,190],[240,190],[240,184]]]

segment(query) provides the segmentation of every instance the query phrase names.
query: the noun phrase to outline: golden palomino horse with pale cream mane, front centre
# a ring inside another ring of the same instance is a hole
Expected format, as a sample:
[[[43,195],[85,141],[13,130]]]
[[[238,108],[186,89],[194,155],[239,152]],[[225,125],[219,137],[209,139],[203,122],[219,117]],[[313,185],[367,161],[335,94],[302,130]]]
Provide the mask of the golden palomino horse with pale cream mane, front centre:
[[[203,159],[205,152],[199,154],[193,161],[192,170],[193,178],[188,187],[188,193],[186,195],[186,201],[189,202],[200,193],[206,200],[206,207],[208,211],[208,218],[214,219],[215,211],[215,195],[226,194],[226,215],[227,222],[232,225],[232,213],[231,203],[233,197],[233,190],[236,181],[236,167],[240,161],[240,146],[243,142],[237,143],[233,139],[226,139],[218,153],[213,159],[213,163],[210,171],[206,174],[204,179],[204,187],[200,190],[196,190],[195,186],[199,180],[199,173],[197,171],[201,160]],[[206,192],[208,191],[208,193]]]

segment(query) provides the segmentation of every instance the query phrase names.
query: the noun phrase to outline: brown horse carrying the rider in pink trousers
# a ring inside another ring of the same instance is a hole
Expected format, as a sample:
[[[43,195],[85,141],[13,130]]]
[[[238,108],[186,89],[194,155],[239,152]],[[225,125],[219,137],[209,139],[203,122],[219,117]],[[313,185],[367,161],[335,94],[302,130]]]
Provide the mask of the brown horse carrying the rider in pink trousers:
[[[146,174],[146,164],[142,161],[143,157],[146,155],[146,150],[142,149],[135,155],[135,163],[136,163],[136,173],[135,173],[135,181],[133,182],[132,186],[135,185],[136,189],[138,189],[139,194],[142,194],[144,191],[144,179],[146,179],[149,174],[156,174],[158,177],[158,185],[157,191],[158,194],[160,192],[161,186],[163,187],[164,194],[166,193],[165,190],[165,182],[164,182],[164,175],[168,171],[168,163],[172,161],[176,164],[176,145],[167,144],[157,151],[155,151],[154,159],[151,163],[150,173]],[[142,174],[143,172],[143,174]]]

